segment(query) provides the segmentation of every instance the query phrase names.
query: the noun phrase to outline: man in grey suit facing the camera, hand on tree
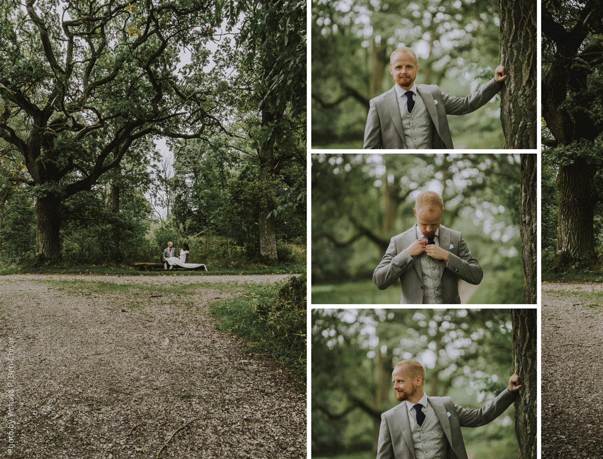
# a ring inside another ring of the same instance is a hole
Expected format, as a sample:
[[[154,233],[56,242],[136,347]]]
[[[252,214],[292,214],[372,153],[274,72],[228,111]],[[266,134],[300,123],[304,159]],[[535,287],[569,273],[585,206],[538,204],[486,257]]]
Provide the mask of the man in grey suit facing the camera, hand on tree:
[[[454,148],[446,115],[466,115],[484,106],[507,79],[504,66],[494,78],[467,97],[449,96],[434,84],[414,84],[417,55],[411,48],[391,53],[394,87],[370,101],[364,149]]]

